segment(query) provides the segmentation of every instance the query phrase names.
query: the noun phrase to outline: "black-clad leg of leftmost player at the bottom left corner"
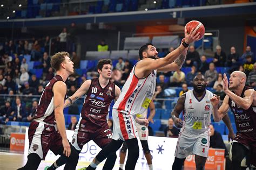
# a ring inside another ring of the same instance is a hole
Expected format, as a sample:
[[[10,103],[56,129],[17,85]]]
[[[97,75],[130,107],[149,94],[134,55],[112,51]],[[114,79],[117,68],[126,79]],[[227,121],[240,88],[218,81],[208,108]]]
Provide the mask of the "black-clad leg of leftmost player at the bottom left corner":
[[[19,170],[36,170],[41,162],[41,158],[36,153],[31,153],[28,155],[28,161],[26,161],[26,165]]]

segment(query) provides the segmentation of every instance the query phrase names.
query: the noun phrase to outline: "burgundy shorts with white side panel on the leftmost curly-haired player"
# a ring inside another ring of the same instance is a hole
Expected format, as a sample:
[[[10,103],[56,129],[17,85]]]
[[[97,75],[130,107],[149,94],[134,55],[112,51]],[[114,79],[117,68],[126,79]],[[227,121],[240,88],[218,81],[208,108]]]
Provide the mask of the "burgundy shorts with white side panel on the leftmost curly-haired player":
[[[62,146],[62,137],[54,126],[32,121],[29,126],[29,154],[36,153],[44,160],[51,150],[57,155]]]

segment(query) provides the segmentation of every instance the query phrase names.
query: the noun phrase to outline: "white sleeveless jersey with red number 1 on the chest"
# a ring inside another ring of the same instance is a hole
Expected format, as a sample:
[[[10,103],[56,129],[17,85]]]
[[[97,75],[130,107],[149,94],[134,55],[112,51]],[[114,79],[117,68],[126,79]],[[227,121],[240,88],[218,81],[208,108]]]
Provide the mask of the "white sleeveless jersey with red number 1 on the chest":
[[[205,96],[199,101],[193,94],[194,90],[187,91],[184,103],[184,121],[183,129],[190,130],[194,133],[203,133],[208,129],[211,123],[212,104],[211,91],[206,90]],[[182,131],[182,130],[181,130]]]

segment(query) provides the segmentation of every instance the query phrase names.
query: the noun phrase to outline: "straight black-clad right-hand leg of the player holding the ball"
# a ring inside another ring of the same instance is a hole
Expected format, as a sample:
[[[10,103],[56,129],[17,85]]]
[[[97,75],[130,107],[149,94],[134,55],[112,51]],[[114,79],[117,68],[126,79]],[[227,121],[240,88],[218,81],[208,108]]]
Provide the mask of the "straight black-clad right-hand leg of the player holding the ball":
[[[125,169],[135,169],[136,162],[139,158],[139,144],[137,138],[125,140],[128,148],[128,157],[125,164]]]

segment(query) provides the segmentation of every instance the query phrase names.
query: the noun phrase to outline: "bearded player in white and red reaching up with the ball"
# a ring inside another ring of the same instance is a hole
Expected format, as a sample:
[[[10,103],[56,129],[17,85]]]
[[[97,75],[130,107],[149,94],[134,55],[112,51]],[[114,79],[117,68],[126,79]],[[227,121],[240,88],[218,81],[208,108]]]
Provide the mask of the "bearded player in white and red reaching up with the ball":
[[[147,126],[147,119],[139,119],[136,114],[143,114],[152,100],[156,88],[157,69],[160,72],[177,70],[185,60],[188,45],[199,39],[199,33],[192,29],[185,34],[182,44],[167,54],[165,58],[157,59],[156,47],[148,43],[139,49],[139,58],[126,80],[122,93],[113,106],[113,138],[109,145],[98,153],[87,169],[95,169],[111,152],[116,152],[125,140],[128,148],[128,158],[125,169],[134,169],[139,157],[139,146],[135,122]],[[135,117],[135,118],[134,118]]]

